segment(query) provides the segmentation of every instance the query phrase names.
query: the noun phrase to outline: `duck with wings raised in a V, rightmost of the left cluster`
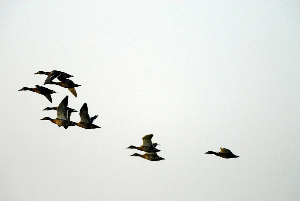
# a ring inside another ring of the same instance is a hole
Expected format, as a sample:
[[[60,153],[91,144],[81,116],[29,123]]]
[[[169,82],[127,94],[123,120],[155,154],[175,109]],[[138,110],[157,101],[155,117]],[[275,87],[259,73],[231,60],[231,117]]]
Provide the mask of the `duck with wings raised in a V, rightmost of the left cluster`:
[[[101,128],[100,126],[97,126],[93,124],[93,121],[98,117],[98,115],[95,115],[94,117],[90,118],[90,115],[88,114],[88,105],[84,103],[79,111],[80,116],[80,122],[72,122],[76,126],[79,126],[84,129],[94,129],[94,128]]]

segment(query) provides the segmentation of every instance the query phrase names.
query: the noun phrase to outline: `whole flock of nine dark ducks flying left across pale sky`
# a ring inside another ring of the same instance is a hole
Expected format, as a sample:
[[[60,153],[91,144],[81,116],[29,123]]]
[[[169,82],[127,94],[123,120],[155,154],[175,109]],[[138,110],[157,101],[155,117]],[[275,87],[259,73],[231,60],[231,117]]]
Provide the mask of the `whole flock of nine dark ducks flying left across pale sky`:
[[[48,75],[46,78],[45,84],[56,84],[61,87],[67,88],[76,98],[77,98],[77,93],[75,90],[75,87],[80,87],[81,85],[79,84],[74,84],[73,81],[71,81],[68,78],[73,77],[72,75],[69,75],[67,73],[61,72],[61,71],[51,71],[51,72],[44,72],[44,71],[39,71],[34,74],[40,74],[40,75]],[[53,82],[57,78],[60,82]],[[57,93],[56,91],[53,91],[51,89],[48,89],[46,87],[42,87],[39,85],[35,85],[35,88],[28,88],[28,87],[23,87],[19,91],[33,91],[38,94],[42,94],[46,96],[46,98],[52,103],[52,98],[51,94],[52,93]],[[65,129],[67,129],[69,126],[79,126],[84,129],[95,129],[95,128],[100,128],[99,126],[93,124],[93,121],[98,117],[98,115],[95,115],[94,117],[90,117],[88,115],[88,105],[84,103],[79,111],[79,116],[80,116],[80,122],[76,123],[70,120],[70,115],[72,112],[77,112],[77,110],[74,110],[72,108],[68,107],[68,95],[61,101],[61,103],[57,107],[52,107],[52,108],[45,108],[43,110],[57,110],[57,117],[55,119],[52,119],[50,117],[44,117],[41,120],[49,120],[52,123],[57,124],[59,127],[63,126]],[[126,149],[137,149],[140,151],[145,151],[146,153],[141,155],[141,154],[133,154],[131,156],[139,156],[142,158],[145,158],[147,160],[151,161],[158,161],[158,160],[165,160],[164,158],[160,157],[157,155],[156,152],[159,152],[161,150],[157,149],[156,146],[158,143],[152,143],[152,137],[153,134],[146,135],[144,136],[143,139],[143,145],[140,147],[136,146],[129,146]],[[208,151],[204,154],[214,154],[216,156],[222,157],[222,158],[238,158],[239,156],[236,156],[233,154],[229,149],[225,148],[220,148],[220,152],[214,152],[214,151]]]

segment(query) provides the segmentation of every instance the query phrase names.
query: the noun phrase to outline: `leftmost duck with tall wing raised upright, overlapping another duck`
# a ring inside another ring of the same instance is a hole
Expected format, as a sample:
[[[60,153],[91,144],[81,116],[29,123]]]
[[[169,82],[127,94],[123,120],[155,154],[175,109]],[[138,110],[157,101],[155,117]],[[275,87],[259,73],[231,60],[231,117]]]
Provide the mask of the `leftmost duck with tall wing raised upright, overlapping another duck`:
[[[56,119],[51,119],[50,117],[44,117],[41,120],[49,120],[52,123],[57,124],[59,127],[63,126],[65,129],[67,129],[68,126],[75,126],[75,124],[73,122],[69,121],[67,106],[68,106],[68,95],[59,104],[59,106],[57,108],[57,118]]]

